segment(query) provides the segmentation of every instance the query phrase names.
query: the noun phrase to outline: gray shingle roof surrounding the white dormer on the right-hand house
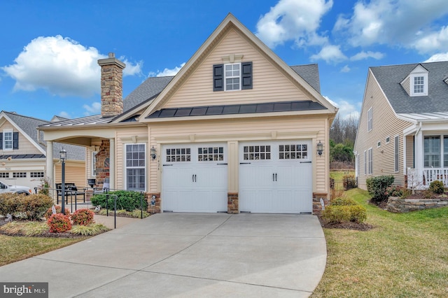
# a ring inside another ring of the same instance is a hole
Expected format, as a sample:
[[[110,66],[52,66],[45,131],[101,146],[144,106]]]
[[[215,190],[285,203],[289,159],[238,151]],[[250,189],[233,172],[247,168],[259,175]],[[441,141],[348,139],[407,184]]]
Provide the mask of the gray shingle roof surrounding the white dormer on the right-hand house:
[[[419,64],[370,67],[395,113],[433,113],[448,111],[448,62],[421,63],[428,70],[428,96],[410,97],[400,85]],[[368,94],[367,94],[368,95]]]

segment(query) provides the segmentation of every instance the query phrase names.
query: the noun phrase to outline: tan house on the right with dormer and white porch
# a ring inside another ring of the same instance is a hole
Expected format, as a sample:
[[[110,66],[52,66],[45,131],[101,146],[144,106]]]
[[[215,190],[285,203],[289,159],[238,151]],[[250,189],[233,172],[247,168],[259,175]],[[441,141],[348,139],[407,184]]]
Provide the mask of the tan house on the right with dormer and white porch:
[[[448,186],[448,62],[370,67],[354,147],[358,186]]]

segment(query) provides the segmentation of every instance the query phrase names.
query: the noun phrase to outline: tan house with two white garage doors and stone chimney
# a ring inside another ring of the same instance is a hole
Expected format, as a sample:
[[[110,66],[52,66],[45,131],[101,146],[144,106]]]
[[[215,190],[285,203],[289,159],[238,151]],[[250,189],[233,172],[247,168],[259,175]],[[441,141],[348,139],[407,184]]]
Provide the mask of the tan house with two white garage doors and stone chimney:
[[[125,64],[98,63],[102,114],[39,128],[86,146],[98,187],[144,191],[155,212],[311,213],[328,200],[337,108],[317,65],[286,65],[231,14],[176,76],[124,101]]]

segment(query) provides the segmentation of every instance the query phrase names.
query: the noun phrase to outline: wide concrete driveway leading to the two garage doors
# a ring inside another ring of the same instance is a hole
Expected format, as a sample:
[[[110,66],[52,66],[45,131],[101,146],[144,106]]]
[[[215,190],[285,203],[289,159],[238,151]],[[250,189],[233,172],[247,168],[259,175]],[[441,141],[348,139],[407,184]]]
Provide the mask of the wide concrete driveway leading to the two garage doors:
[[[314,215],[162,213],[0,267],[50,297],[308,297],[325,269]]]

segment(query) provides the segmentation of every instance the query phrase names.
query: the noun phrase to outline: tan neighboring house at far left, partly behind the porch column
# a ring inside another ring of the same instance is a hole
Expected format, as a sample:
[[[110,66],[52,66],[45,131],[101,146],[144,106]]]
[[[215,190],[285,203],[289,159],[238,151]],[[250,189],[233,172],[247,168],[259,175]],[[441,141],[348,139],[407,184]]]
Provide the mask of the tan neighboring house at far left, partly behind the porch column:
[[[45,143],[38,137],[37,127],[49,121],[0,112],[0,180],[10,185],[24,185],[34,191],[46,175]],[[64,148],[70,159],[66,161],[67,182],[86,185],[85,148],[55,143],[52,171],[60,173],[59,151]],[[59,182],[60,175],[55,182]]]

